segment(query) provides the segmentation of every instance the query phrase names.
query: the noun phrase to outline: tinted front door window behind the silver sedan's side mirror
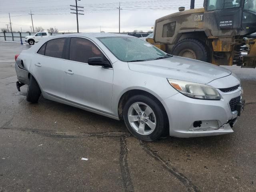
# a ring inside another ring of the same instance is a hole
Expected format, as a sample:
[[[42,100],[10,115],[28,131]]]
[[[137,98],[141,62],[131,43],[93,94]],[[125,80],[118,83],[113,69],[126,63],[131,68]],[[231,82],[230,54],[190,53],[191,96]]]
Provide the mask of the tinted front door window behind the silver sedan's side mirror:
[[[91,57],[102,57],[103,60],[107,60],[91,41],[84,38],[71,38],[69,60],[88,63],[88,58]]]

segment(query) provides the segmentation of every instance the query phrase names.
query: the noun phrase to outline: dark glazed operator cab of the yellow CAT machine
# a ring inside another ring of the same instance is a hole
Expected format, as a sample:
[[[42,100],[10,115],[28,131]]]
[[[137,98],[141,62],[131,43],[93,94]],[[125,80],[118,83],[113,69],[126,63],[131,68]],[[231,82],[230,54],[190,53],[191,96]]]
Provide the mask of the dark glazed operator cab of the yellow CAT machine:
[[[256,0],[204,0],[204,28],[212,36],[246,36],[256,31]]]

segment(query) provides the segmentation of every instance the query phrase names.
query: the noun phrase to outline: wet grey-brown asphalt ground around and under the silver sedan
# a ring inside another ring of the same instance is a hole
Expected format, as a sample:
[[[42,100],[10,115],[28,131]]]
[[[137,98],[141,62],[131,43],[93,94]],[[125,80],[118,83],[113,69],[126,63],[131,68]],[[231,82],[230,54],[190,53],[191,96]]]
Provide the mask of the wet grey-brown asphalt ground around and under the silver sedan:
[[[227,67],[247,102],[234,133],[142,142],[123,122],[42,97],[28,103],[14,70],[27,48],[0,42],[0,192],[256,191],[256,69]]]

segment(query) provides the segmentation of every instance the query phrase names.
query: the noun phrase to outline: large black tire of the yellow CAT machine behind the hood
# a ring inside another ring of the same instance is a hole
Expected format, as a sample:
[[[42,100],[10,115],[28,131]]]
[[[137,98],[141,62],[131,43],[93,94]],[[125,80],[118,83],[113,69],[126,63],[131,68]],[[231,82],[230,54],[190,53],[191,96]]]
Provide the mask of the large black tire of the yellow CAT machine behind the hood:
[[[192,58],[192,59],[196,59],[204,62],[209,61],[206,45],[192,38],[186,38],[186,39],[180,40],[172,48],[172,54],[177,56],[183,56],[186,58]]]

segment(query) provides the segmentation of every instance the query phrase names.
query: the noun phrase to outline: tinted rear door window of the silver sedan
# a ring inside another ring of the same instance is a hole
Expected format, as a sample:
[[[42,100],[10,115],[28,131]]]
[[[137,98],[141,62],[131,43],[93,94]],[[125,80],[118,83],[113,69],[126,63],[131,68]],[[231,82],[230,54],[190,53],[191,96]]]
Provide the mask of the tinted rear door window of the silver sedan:
[[[47,42],[45,56],[62,58],[66,38],[53,39]]]

